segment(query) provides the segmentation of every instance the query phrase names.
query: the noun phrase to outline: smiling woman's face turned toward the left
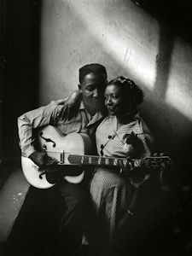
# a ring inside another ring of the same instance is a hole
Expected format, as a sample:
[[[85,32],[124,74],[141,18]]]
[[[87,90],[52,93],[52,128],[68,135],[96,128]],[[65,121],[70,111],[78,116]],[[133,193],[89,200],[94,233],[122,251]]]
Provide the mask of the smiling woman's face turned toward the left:
[[[121,86],[109,84],[105,90],[105,106],[110,115],[122,115],[129,112],[128,97],[124,95]]]

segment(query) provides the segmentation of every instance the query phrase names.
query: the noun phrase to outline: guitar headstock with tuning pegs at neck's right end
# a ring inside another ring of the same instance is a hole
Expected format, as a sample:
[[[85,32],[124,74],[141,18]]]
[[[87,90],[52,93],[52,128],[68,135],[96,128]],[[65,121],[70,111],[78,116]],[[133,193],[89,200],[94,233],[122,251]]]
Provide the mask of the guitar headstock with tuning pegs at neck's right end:
[[[167,166],[172,165],[172,160],[169,156],[164,154],[154,154],[153,156],[143,159],[143,165],[147,169],[165,169]]]

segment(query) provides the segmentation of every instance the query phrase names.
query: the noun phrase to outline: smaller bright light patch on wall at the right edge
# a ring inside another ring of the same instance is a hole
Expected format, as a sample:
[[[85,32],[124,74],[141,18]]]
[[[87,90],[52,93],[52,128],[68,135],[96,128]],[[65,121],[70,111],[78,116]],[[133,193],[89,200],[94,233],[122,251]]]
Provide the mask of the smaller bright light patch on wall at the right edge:
[[[175,38],[165,102],[192,120],[192,48]]]

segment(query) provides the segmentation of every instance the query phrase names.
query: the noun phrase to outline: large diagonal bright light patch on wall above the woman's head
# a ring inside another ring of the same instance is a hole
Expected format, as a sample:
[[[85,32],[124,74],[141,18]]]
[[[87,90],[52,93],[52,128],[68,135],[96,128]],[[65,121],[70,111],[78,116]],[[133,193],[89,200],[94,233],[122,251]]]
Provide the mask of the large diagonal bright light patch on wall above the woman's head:
[[[158,51],[158,34],[153,43],[153,49],[146,45],[143,46],[142,37],[135,38],[137,31],[134,30],[134,27],[130,27],[131,24],[125,22],[125,17],[122,17],[120,12],[115,10],[116,16],[110,17],[116,22],[112,25],[106,15],[102,13],[103,6],[99,4],[100,1],[93,1],[93,3],[87,4],[87,7],[84,1],[67,0],[67,2],[106,53],[112,55],[121,67],[129,71],[133,77],[141,80],[149,90],[153,90],[156,77],[155,56]]]

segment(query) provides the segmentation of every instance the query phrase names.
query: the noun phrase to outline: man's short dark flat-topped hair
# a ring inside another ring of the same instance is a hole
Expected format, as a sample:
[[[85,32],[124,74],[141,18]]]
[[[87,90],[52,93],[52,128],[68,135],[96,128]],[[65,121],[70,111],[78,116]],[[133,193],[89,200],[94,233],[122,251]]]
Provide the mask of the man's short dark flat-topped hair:
[[[88,73],[94,73],[97,75],[103,74],[107,79],[107,71],[106,68],[103,67],[101,64],[98,63],[92,63],[87,64],[84,67],[81,67],[79,69],[79,83],[81,84],[82,80],[84,79],[84,76]]]

